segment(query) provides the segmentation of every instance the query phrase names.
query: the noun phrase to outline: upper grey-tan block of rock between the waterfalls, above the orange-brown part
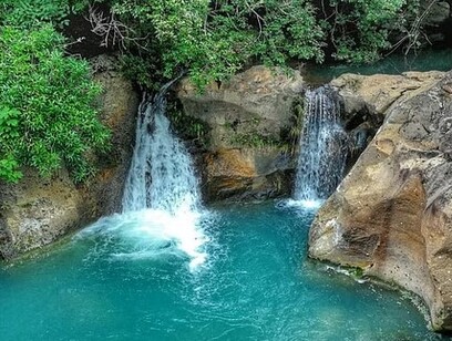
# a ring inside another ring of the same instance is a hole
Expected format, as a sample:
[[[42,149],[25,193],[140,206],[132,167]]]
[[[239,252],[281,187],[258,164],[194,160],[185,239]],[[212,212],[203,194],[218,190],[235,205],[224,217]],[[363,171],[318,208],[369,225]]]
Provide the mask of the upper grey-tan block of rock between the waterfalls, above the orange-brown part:
[[[210,126],[210,148],[240,147],[242,140],[250,134],[278,141],[281,128],[289,125],[291,105],[304,85],[297,71],[288,75],[259,65],[228,82],[214,82],[202,93],[184,79],[177,96],[186,114]]]

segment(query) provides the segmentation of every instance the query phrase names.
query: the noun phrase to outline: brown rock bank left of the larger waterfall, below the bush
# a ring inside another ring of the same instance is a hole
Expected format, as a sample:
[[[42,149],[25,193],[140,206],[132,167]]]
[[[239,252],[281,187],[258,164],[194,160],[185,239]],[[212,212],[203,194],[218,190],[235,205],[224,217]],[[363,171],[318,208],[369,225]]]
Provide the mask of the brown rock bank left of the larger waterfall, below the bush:
[[[132,84],[101,58],[95,79],[103,85],[102,120],[112,128],[113,146],[97,161],[97,176],[75,187],[65,170],[42,179],[25,169],[18,185],[0,184],[0,259],[48,245],[102,215],[120,209],[133,148],[137,96]]]

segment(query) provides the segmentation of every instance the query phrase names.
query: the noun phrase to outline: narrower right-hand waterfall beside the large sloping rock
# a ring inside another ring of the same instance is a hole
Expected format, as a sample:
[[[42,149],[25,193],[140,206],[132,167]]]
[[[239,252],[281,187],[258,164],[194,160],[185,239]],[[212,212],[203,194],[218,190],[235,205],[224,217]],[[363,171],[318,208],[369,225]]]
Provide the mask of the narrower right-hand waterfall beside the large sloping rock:
[[[342,179],[347,158],[347,134],[331,87],[306,92],[299,151],[294,198],[311,203],[326,199]]]

